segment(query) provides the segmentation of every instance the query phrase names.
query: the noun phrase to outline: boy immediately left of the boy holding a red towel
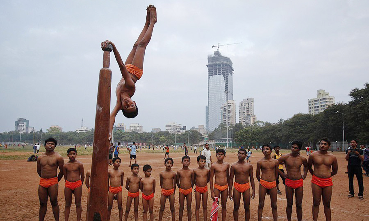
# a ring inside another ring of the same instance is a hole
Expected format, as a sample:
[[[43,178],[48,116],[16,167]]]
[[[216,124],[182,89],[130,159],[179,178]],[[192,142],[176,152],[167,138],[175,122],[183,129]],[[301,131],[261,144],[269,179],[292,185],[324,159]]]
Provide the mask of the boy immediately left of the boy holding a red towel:
[[[210,170],[205,168],[206,157],[204,155],[199,155],[197,157],[197,164],[199,167],[193,170],[194,173],[194,184],[195,184],[195,199],[196,199],[196,209],[195,216],[196,221],[199,221],[200,217],[200,202],[203,199],[203,213],[204,220],[207,220],[207,183],[210,180]]]

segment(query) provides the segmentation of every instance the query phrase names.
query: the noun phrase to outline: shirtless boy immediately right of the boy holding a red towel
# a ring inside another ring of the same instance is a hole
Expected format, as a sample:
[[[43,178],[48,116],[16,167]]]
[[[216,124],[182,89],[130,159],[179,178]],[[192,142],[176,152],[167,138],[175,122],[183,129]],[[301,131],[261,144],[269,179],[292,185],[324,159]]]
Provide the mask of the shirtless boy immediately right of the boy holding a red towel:
[[[255,197],[255,182],[254,175],[252,173],[252,165],[245,162],[246,154],[246,149],[239,149],[237,154],[238,162],[231,166],[229,197],[234,203],[234,221],[238,221],[238,209],[241,194],[244,201],[245,220],[250,220],[250,183],[252,187],[251,199],[254,199]],[[235,177],[235,181],[232,194],[233,177]]]

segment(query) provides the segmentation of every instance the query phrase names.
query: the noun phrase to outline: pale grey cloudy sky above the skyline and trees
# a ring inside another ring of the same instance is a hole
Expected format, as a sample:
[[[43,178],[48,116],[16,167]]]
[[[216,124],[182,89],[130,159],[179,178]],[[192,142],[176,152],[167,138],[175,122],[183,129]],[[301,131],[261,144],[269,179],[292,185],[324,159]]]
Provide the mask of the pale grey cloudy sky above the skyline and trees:
[[[139,115],[115,122],[145,131],[175,121],[205,124],[207,55],[220,47],[234,67],[234,99],[255,98],[258,120],[307,113],[325,89],[348,102],[369,81],[369,1],[4,1],[0,9],[0,132],[19,117],[44,131],[94,126],[100,42],[123,59],[136,41],[146,6],[158,22],[133,99]],[[111,109],[121,78],[112,54]],[[237,116],[238,119],[238,116]]]

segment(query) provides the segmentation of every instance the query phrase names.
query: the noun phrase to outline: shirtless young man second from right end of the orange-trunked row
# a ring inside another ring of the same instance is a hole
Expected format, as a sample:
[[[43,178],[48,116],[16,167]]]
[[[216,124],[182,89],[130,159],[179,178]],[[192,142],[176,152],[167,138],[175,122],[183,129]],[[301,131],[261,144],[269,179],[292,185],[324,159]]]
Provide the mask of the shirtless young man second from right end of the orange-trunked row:
[[[293,193],[296,198],[297,221],[302,220],[302,199],[304,193],[304,179],[307,175],[307,159],[299,154],[302,147],[300,141],[292,141],[291,153],[279,157],[279,165],[286,165],[287,173],[279,170],[279,175],[285,179],[287,207],[287,220],[291,221]],[[301,166],[304,165],[304,175],[301,175]]]

